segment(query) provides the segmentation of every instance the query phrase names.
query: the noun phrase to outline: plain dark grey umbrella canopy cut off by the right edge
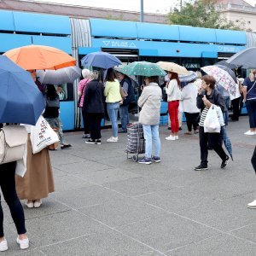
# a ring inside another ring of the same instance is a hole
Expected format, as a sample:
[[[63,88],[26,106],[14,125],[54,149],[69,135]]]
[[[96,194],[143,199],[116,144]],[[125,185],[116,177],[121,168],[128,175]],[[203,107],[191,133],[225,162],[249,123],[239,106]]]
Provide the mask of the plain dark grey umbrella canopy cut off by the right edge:
[[[242,68],[256,68],[256,47],[241,50],[226,62],[241,66]]]

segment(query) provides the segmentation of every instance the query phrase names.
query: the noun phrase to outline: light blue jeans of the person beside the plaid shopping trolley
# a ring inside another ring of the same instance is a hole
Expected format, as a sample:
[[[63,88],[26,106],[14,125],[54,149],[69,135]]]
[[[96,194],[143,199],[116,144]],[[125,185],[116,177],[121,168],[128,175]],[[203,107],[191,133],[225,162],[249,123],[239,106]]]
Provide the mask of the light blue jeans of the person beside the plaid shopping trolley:
[[[151,158],[152,139],[154,143],[154,156],[160,157],[159,125],[143,125],[144,138],[146,140],[145,156]]]

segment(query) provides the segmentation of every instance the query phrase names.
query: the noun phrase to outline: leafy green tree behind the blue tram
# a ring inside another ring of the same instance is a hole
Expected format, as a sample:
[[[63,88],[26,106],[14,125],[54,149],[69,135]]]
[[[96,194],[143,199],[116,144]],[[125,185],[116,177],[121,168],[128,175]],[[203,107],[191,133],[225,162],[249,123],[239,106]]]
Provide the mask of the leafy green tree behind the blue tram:
[[[219,29],[242,30],[242,22],[236,25],[219,13],[217,0],[197,0],[195,3],[184,3],[182,9],[174,9],[168,19],[171,24],[199,26]]]

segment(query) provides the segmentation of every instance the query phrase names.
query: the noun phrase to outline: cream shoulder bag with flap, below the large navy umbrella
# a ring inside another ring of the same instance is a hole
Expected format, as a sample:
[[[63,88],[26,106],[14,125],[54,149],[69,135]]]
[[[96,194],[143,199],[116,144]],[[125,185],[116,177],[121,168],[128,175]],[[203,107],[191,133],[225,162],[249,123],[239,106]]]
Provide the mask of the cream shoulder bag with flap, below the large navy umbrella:
[[[7,125],[0,130],[0,165],[22,160],[27,142],[24,126]]]

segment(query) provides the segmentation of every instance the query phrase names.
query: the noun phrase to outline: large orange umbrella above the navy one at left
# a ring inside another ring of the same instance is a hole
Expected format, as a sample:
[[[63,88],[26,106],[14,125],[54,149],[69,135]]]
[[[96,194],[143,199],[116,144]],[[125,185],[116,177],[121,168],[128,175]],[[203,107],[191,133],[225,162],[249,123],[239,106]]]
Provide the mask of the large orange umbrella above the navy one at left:
[[[10,49],[3,55],[26,70],[60,69],[76,65],[76,60],[66,52],[44,45],[32,44]]]

